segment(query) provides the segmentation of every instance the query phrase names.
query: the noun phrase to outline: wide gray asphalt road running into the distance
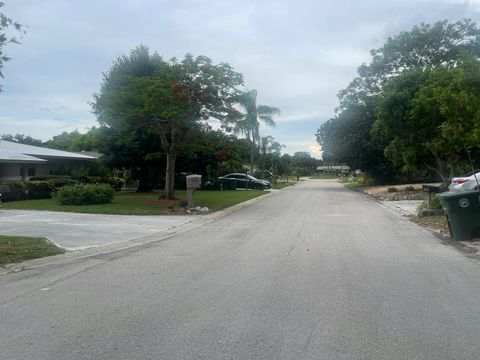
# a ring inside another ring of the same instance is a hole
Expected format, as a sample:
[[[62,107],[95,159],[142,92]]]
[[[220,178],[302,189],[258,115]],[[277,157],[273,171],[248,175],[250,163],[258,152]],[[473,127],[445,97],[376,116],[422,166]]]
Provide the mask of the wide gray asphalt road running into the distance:
[[[0,277],[2,360],[479,354],[479,263],[334,182],[135,251]]]

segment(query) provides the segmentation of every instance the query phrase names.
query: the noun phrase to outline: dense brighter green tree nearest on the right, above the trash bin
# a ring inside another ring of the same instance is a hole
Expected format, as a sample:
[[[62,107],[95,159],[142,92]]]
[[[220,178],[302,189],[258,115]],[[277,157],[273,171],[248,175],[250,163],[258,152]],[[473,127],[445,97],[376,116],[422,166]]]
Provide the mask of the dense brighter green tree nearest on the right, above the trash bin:
[[[372,131],[397,167],[427,167],[447,186],[468,153],[478,153],[479,130],[480,61],[464,55],[455,67],[417,68],[387,82]]]

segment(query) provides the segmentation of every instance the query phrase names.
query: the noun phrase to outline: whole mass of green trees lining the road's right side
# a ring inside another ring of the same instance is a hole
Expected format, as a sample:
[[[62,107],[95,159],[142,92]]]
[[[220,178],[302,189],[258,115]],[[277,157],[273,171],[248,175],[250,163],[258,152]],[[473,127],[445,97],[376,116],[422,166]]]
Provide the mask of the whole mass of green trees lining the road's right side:
[[[477,24],[420,24],[370,53],[316,133],[324,160],[361,169],[376,184],[435,177],[443,188],[480,167]]]

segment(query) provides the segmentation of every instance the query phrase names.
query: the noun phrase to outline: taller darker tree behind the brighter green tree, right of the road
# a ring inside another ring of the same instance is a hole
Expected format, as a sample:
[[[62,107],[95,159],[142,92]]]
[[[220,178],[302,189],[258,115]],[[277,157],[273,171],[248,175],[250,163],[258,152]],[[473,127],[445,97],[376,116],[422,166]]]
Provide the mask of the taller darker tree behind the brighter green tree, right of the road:
[[[463,53],[478,57],[480,30],[468,19],[420,24],[388,38],[382,47],[370,53],[371,62],[362,64],[358,76],[339,92],[336,115],[319,128],[317,139],[330,160],[347,162],[376,177],[389,178],[393,169],[383,154],[385,139],[374,138],[371,133],[375,108],[386,84],[413,69],[454,68]]]

